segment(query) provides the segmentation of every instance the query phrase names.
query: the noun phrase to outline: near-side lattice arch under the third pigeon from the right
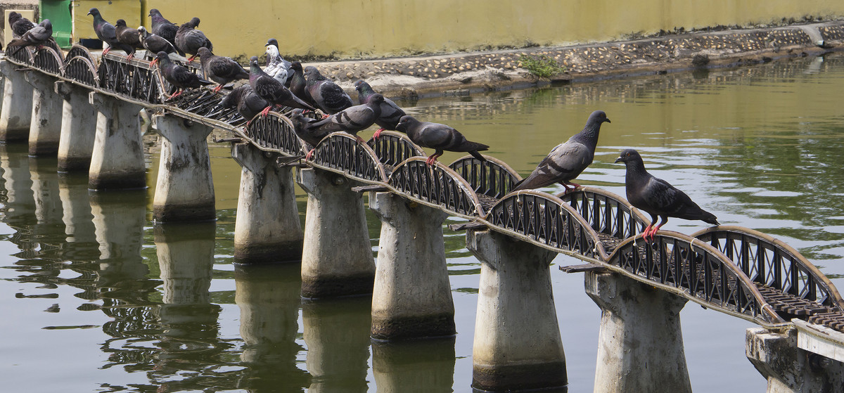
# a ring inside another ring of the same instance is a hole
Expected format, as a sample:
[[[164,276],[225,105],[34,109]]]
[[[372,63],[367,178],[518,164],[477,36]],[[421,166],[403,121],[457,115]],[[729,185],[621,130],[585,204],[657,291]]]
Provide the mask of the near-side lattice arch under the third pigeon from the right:
[[[472,186],[441,163],[425,164],[425,157],[411,157],[398,164],[388,184],[419,202],[464,216],[484,216]]]

